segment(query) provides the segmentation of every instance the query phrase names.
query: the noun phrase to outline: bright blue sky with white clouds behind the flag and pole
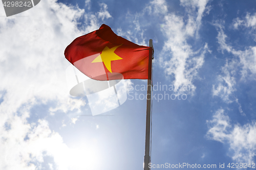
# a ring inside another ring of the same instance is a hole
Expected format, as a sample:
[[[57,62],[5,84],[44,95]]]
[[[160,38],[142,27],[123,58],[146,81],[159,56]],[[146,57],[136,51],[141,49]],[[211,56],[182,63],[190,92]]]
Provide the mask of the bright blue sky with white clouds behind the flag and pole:
[[[103,23],[153,39],[155,89],[177,88],[153,91],[153,164],[252,165],[255,3],[45,0],[10,17],[0,5],[0,169],[143,168],[146,101],[131,96],[146,81],[126,80],[126,102],[104,116],[69,94],[64,50]],[[166,93],[186,99],[157,100]]]

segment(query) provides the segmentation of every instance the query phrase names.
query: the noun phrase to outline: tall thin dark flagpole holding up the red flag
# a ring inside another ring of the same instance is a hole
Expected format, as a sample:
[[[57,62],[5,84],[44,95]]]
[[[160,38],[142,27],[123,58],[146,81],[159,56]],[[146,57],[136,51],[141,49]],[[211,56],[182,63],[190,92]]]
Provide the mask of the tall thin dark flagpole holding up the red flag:
[[[150,47],[153,48],[153,40],[150,39]],[[153,53],[153,49],[152,49]],[[148,60],[148,79],[147,79],[147,100],[146,100],[146,136],[145,136],[145,156],[144,156],[144,170],[150,170],[148,163],[150,158],[150,126],[151,126],[151,76],[152,76],[152,56]]]

